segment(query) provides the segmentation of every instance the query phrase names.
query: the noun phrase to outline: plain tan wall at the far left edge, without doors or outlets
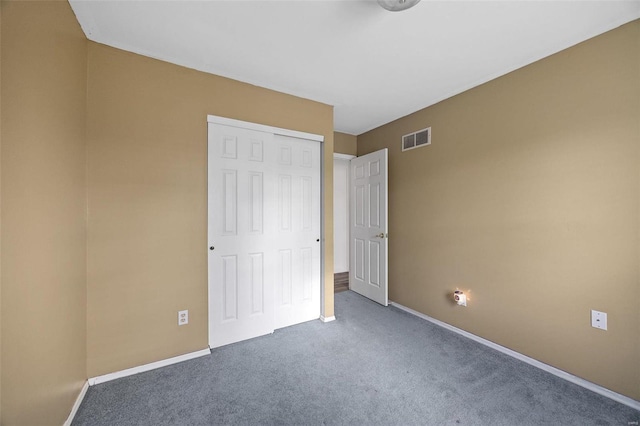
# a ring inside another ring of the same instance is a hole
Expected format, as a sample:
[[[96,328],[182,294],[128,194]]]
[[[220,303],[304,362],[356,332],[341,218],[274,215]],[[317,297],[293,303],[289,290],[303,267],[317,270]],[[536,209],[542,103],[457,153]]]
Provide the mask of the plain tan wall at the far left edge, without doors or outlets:
[[[2,419],[62,424],[86,380],[87,42],[67,2],[2,2]]]

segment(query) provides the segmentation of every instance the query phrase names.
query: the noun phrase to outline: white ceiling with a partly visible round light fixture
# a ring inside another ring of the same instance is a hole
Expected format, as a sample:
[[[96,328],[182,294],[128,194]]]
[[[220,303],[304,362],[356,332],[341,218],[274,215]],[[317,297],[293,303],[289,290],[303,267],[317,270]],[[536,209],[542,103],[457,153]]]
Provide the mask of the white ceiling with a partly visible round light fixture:
[[[640,18],[640,0],[70,3],[90,40],[334,105],[354,135]]]

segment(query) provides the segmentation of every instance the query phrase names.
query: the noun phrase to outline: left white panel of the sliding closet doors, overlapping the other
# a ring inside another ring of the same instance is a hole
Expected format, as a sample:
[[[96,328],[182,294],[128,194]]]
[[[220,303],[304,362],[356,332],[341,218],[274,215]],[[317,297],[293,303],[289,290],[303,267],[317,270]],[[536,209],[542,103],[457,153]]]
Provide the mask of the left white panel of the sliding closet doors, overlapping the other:
[[[209,124],[209,344],[272,333],[275,152],[270,133]]]

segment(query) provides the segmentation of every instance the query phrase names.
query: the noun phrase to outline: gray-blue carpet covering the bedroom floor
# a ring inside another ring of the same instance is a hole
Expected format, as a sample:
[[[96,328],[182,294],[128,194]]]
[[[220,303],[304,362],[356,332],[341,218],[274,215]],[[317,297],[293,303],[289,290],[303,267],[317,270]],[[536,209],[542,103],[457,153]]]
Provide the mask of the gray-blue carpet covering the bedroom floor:
[[[74,425],[620,425],[640,412],[393,307],[93,386]]]

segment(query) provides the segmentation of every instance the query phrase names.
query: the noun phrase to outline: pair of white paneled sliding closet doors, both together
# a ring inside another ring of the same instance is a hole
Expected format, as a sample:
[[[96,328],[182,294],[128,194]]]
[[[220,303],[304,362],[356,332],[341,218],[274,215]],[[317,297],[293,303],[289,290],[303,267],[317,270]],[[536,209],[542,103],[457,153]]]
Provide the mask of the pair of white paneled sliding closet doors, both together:
[[[209,346],[320,316],[320,144],[209,123]]]

